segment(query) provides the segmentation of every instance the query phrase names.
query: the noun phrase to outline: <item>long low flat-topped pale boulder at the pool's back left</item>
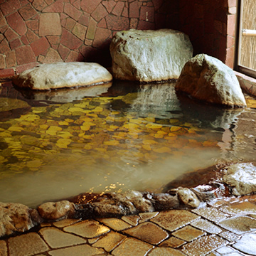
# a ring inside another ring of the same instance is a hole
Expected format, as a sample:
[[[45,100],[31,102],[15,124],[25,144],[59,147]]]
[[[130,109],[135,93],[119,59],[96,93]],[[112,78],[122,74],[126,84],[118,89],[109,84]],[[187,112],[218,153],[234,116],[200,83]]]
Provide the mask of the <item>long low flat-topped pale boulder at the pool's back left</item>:
[[[100,64],[73,62],[38,65],[16,75],[13,82],[18,87],[50,90],[97,85],[111,80],[110,72]]]

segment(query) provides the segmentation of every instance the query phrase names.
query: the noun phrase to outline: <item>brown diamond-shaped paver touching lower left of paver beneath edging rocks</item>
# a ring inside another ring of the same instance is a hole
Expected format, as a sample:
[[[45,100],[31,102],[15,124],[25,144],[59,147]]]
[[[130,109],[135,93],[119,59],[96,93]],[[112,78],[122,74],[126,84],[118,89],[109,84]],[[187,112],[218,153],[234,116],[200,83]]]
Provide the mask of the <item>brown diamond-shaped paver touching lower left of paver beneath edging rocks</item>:
[[[137,225],[137,227],[124,230],[124,233],[143,240],[144,242],[149,242],[151,245],[158,245],[161,241],[169,237],[165,230],[150,222],[142,223]]]

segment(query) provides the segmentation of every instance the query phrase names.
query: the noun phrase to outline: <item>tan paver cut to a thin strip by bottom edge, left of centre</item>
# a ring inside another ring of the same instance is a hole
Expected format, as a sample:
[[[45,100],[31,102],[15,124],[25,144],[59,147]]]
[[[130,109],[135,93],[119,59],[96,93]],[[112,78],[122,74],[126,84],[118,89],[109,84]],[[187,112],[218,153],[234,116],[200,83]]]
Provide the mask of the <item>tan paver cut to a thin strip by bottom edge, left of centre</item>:
[[[91,247],[90,245],[77,245],[64,249],[58,249],[48,252],[51,256],[95,256],[104,255],[104,250]]]

